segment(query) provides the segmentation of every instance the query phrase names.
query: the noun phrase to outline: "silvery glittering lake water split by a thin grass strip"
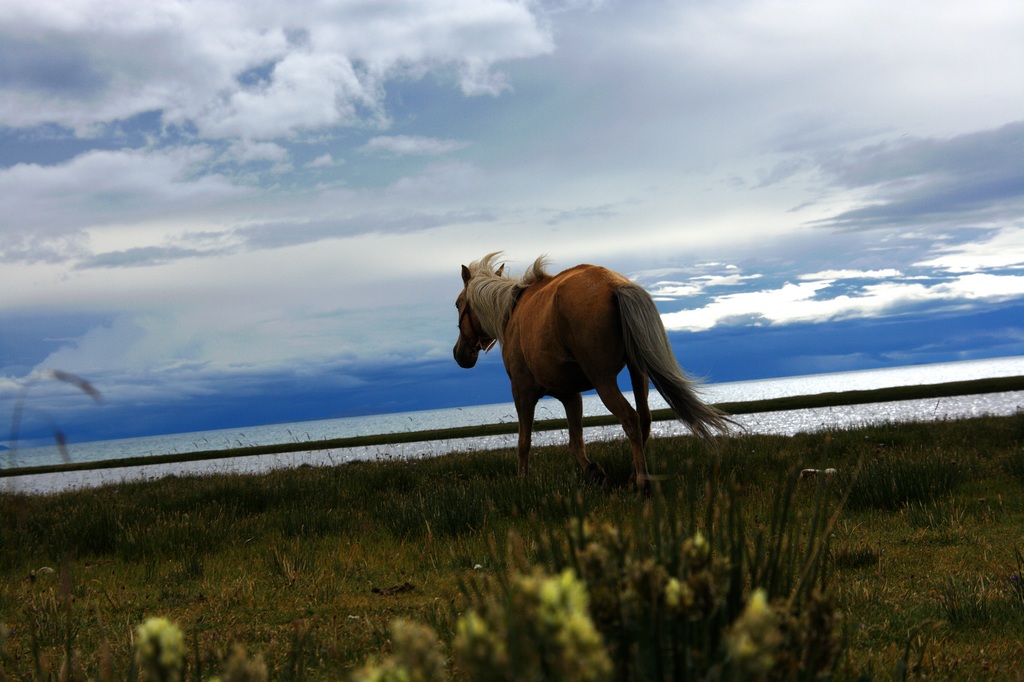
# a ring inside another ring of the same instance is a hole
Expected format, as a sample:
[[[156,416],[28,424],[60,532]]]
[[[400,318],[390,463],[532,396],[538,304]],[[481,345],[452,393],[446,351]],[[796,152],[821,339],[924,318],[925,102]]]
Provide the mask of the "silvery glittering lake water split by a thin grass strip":
[[[891,386],[937,384],[948,381],[1020,375],[1024,375],[1024,356],[709,384],[701,388],[701,394],[711,402],[731,402],[790,395],[810,395],[830,391],[866,390]],[[651,393],[650,402],[651,409],[654,410],[668,407],[656,392]],[[858,426],[882,421],[1010,415],[1022,408],[1024,408],[1024,391],[1017,391],[939,399],[903,400],[899,402],[760,413],[741,415],[736,418],[736,421],[752,433],[792,435],[802,431]],[[584,396],[584,413],[591,416],[607,414],[607,411],[596,395],[590,394]],[[539,420],[549,418],[560,419],[563,417],[564,413],[562,412],[561,404],[555,400],[542,400],[538,406],[537,418]],[[442,429],[455,426],[478,426],[504,422],[514,423],[515,421],[515,408],[509,402],[471,408],[429,410],[293,424],[272,424],[243,429],[76,443],[71,445],[69,451],[75,462],[92,462],[144,455],[228,450],[246,445],[316,441],[380,433]],[[679,422],[671,421],[655,422],[652,432],[655,436],[664,436],[684,434],[688,430]],[[588,440],[617,438],[622,437],[622,429],[618,426],[593,427],[587,429],[585,435]],[[14,476],[0,481],[0,485],[3,485],[8,491],[47,493],[72,486],[97,485],[132,478],[155,478],[168,474],[209,473],[217,471],[256,472],[301,464],[322,466],[360,459],[425,457],[463,450],[514,447],[515,440],[515,435],[508,434],[397,445],[304,451],[281,455],[260,455],[211,460],[207,462],[145,465],[63,474]],[[542,431],[534,434],[535,445],[563,443],[566,440],[567,436],[563,431]],[[14,456],[16,459],[6,462],[6,466],[57,464],[61,461],[56,447],[17,450]]]

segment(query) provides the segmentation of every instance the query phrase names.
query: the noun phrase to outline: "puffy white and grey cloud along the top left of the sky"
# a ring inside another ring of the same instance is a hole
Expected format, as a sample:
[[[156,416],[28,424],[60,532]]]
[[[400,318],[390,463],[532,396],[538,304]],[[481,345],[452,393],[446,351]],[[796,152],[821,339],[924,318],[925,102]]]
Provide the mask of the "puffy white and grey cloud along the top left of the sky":
[[[401,16],[402,20],[392,20]],[[507,88],[495,66],[552,50],[529,5],[399,0],[119,5],[3,3],[17,49],[0,63],[0,120],[92,126],[160,110],[208,137],[270,139],[386,122],[389,78],[454,69],[465,94]]]

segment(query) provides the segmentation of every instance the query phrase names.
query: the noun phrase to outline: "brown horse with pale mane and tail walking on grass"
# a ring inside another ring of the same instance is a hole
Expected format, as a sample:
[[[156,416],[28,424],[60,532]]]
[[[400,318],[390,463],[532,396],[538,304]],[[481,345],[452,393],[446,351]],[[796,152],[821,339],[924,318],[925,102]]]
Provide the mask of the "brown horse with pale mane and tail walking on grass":
[[[519,279],[495,268],[490,253],[462,266],[463,290],[456,300],[459,340],[455,359],[476,365],[481,350],[502,346],[502,357],[519,415],[519,474],[528,470],[534,411],[545,395],[557,398],[568,420],[569,452],[588,478],[603,481],[604,472],[587,458],[583,441],[583,397],[596,389],[618,418],[633,452],[640,489],[650,480],[644,444],[650,436],[648,378],[694,433],[711,440],[732,421],[693,391],[669,345],[662,317],[650,295],[617,272],[577,265],[555,275],[538,258]],[[618,390],[616,377],[630,371],[636,409]]]

